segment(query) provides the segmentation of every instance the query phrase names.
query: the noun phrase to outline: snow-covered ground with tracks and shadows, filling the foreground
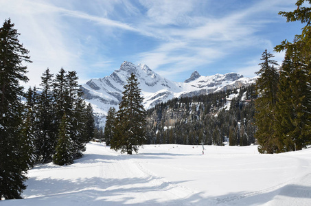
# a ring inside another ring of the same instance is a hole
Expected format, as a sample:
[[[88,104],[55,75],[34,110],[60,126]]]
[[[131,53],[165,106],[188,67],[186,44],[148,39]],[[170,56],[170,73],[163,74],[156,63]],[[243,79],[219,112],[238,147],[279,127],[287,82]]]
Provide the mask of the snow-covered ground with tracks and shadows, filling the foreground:
[[[311,205],[311,148],[146,145],[122,155],[89,143],[72,165],[36,165],[6,205]]]

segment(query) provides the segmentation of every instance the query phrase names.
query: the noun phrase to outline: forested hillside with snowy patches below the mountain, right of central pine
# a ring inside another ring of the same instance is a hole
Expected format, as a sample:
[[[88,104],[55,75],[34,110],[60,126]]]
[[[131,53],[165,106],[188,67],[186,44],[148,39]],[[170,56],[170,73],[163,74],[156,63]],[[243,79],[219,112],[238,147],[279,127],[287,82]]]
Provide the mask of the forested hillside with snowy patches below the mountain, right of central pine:
[[[147,144],[253,144],[256,97],[252,85],[157,104],[147,111]]]

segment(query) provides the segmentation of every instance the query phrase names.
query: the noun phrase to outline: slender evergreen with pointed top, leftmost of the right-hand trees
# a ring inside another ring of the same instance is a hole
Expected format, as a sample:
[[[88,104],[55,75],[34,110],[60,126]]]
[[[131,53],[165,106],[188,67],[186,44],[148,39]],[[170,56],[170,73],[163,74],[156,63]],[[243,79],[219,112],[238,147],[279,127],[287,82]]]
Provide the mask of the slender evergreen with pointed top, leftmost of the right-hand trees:
[[[264,62],[260,63],[261,69],[256,73],[259,75],[256,81],[256,89],[260,98],[257,98],[255,102],[255,123],[257,125],[255,135],[258,144],[260,144],[258,150],[262,153],[274,153],[277,150],[273,122],[275,122],[279,74],[274,67],[274,65],[277,65],[277,62],[270,60],[273,57],[272,54],[265,50],[261,59]]]

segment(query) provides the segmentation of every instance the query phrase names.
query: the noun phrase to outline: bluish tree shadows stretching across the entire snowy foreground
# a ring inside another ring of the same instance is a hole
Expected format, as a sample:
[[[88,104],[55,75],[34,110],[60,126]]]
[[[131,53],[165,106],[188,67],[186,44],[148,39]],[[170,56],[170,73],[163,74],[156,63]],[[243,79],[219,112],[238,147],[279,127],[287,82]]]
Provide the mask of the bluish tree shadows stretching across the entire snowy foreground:
[[[163,201],[158,192],[170,193],[172,186],[178,187],[181,182],[165,183],[157,178],[125,178],[104,179],[93,177],[90,179],[29,179],[24,200],[21,205],[262,205],[278,196],[278,203],[282,196],[304,199],[311,203],[311,186],[284,185],[268,192],[238,192],[222,196],[206,196],[203,193],[181,195],[168,201]],[[155,183],[157,184],[155,184]],[[182,181],[186,182],[186,181]],[[152,199],[150,193],[154,192]],[[178,192],[178,190],[177,190]],[[32,198],[30,194],[36,195]],[[138,194],[138,195],[137,195]],[[146,196],[146,198],[144,198]],[[148,200],[147,200],[148,199]],[[5,203],[5,202],[3,202]],[[8,201],[8,205],[10,205]],[[48,204],[47,204],[48,203]],[[298,202],[299,203],[299,202]]]

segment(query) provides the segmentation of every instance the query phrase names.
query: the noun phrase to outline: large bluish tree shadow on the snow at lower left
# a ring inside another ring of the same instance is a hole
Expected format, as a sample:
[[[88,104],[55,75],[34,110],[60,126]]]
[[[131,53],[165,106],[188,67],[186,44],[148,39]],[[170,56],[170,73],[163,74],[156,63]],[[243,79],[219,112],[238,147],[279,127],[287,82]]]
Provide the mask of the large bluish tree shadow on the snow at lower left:
[[[24,205],[181,205],[186,201],[194,201],[200,198],[199,194],[183,199],[175,198],[172,201],[161,201],[162,196],[157,192],[169,191],[173,185],[181,182],[157,182],[157,178],[126,178],[104,179],[93,177],[91,179],[78,179],[75,181],[65,179],[30,179],[26,199],[21,200]],[[145,184],[147,186],[145,186]],[[155,196],[150,200],[150,193]],[[36,197],[29,196],[30,194]],[[162,193],[163,194],[163,193]],[[149,198],[148,201],[143,198]],[[133,203],[131,203],[131,201]],[[22,204],[22,205],[23,205]]]

